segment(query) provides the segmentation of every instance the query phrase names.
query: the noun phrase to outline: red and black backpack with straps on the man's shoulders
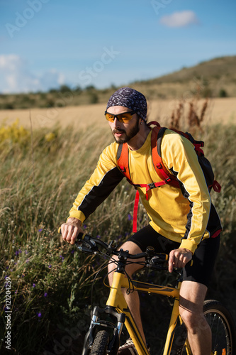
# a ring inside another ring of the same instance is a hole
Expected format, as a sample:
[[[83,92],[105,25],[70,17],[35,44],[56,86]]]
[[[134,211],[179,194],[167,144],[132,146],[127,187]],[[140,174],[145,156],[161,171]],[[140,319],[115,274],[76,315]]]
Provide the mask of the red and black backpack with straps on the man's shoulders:
[[[159,178],[162,179],[161,181],[152,182],[150,184],[138,184],[138,185],[133,184],[130,178],[128,144],[127,143],[120,144],[117,152],[117,163],[121,173],[125,175],[125,178],[127,178],[128,182],[130,182],[130,184],[133,185],[136,190],[137,187],[146,187],[146,200],[148,200],[149,198],[148,192],[155,187],[169,184],[174,187],[180,188],[179,181],[176,179],[176,176],[171,174],[169,170],[167,170],[167,168],[164,166],[164,163],[162,162],[161,143],[162,143],[162,138],[164,136],[164,131],[166,131],[167,128],[161,127],[159,123],[157,123],[156,121],[151,121],[148,124],[148,126],[151,125],[155,126],[154,129],[152,129],[152,136],[151,136],[152,162],[157,175],[159,176]],[[204,156],[203,150],[201,149],[204,146],[204,142],[196,141],[193,138],[193,136],[191,136],[191,134],[188,132],[184,133],[182,131],[177,131],[176,129],[172,129],[172,131],[181,134],[181,136],[184,136],[185,138],[189,139],[191,143],[193,143],[193,146],[196,151],[196,155],[198,155],[198,162],[201,165],[203,174],[206,179],[206,184],[208,185],[208,190],[210,191],[213,188],[214,191],[220,192],[221,186],[216,180],[214,180],[213,169],[210,165],[209,160]],[[133,209],[133,232],[137,231],[138,202],[139,202],[139,192],[137,190],[136,197],[135,197],[135,205]]]

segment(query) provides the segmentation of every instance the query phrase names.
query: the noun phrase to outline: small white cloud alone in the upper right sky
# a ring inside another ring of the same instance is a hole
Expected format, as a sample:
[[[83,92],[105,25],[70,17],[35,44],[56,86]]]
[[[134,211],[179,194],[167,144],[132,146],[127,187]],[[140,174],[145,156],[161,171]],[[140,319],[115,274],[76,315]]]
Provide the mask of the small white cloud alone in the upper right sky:
[[[186,10],[174,12],[171,15],[163,16],[160,23],[167,27],[184,27],[199,23],[196,14],[193,11]]]

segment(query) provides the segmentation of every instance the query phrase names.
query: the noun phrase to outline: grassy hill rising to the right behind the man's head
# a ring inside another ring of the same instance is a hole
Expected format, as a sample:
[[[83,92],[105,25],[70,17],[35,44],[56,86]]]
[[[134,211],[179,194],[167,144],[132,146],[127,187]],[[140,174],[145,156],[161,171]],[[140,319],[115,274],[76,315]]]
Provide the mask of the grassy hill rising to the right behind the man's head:
[[[236,56],[215,58],[193,67],[183,67],[162,77],[134,82],[133,87],[147,97],[184,99],[200,97],[236,97]]]

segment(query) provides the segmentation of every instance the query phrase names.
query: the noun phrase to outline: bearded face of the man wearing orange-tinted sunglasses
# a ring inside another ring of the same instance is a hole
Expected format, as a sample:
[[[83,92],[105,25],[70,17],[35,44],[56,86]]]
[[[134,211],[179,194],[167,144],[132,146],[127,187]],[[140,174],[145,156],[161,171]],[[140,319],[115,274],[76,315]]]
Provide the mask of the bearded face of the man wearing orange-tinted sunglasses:
[[[130,112],[132,110],[123,106],[113,106],[109,107],[107,111],[110,114],[123,114],[124,112]],[[117,117],[113,122],[108,121],[108,124],[111,127],[116,143],[127,143],[140,131],[140,119],[137,114],[134,114],[127,124],[119,122]]]

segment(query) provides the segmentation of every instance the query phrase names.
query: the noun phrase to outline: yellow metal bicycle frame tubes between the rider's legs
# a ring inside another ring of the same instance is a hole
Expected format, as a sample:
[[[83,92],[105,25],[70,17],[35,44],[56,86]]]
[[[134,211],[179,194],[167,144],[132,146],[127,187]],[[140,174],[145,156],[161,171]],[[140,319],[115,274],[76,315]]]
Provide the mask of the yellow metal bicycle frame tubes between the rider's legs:
[[[130,281],[133,285],[134,291],[142,291],[150,294],[165,295],[167,297],[174,298],[174,305],[172,309],[172,317],[169,322],[169,329],[167,332],[167,339],[164,346],[163,355],[169,355],[172,351],[172,342],[174,339],[174,330],[177,324],[179,316],[179,289],[181,282],[179,282],[177,288],[153,285],[150,283],[142,283],[136,280]],[[125,314],[125,327],[128,330],[131,339],[135,344],[135,348],[140,355],[148,355],[149,351],[147,350],[146,344],[143,342],[139,330],[133,320],[133,316],[128,309],[128,305],[123,296],[121,288],[129,288],[128,279],[125,278],[125,275],[120,272],[115,272],[113,275],[113,283],[111,285],[110,295],[106,302],[107,306],[115,307],[118,312]]]

